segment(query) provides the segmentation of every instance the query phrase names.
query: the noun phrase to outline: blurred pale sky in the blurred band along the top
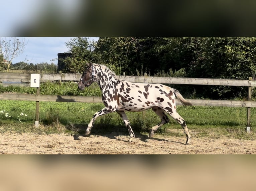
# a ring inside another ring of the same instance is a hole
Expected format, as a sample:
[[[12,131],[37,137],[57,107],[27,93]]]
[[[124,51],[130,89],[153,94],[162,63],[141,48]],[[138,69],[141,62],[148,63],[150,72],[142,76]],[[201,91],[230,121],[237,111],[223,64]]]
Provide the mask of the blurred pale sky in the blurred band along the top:
[[[61,20],[69,20],[78,12],[82,0],[8,0],[1,1],[1,36],[16,36],[17,30],[33,25],[49,13]],[[51,28],[49,27],[49,29]]]

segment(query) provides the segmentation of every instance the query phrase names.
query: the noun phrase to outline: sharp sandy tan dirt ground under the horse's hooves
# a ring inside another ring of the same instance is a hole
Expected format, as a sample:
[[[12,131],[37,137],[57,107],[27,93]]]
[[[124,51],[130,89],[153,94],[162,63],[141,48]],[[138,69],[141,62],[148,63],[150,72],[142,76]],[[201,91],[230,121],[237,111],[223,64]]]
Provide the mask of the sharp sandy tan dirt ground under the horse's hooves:
[[[137,135],[0,134],[0,154],[256,154],[256,140]]]

